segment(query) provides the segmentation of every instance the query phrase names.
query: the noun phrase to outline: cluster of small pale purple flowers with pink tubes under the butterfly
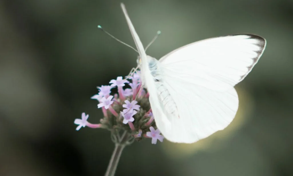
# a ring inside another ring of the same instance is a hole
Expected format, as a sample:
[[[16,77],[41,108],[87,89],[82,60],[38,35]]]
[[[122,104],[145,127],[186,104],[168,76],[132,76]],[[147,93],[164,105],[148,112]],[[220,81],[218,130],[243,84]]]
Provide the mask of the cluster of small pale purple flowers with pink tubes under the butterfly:
[[[99,93],[91,99],[99,101],[98,108],[103,111],[104,118],[99,124],[87,121],[88,115],[82,113],[81,119],[75,119],[76,130],[88,126],[90,128],[105,128],[110,131],[126,131],[130,138],[140,141],[142,138],[152,138],[151,143],[163,141],[149,104],[149,94],[142,88],[139,72],[134,72],[129,79],[117,77],[110,85],[97,87]],[[123,87],[130,88],[123,88]],[[111,95],[111,89],[117,87],[118,94]],[[119,138],[119,137],[118,137]]]

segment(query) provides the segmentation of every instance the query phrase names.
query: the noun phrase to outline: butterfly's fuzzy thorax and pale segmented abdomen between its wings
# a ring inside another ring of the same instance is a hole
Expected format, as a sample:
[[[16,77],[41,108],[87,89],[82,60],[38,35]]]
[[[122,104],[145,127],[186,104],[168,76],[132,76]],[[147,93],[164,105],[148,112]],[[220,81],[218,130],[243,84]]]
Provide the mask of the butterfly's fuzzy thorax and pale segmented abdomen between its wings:
[[[179,117],[177,105],[174,99],[172,98],[168,88],[166,87],[166,83],[164,82],[160,62],[150,56],[148,56],[148,62],[149,70],[151,72],[151,76],[154,79],[155,86],[157,89],[158,98],[159,100],[161,100],[161,105],[164,107],[167,117]]]

